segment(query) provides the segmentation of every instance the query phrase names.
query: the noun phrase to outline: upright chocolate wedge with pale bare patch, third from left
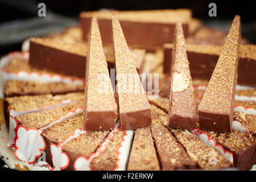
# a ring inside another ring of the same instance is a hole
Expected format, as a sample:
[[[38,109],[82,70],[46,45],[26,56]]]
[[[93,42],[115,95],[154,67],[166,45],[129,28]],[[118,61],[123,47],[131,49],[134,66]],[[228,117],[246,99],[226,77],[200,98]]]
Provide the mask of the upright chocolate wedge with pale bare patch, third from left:
[[[191,130],[197,121],[197,110],[181,23],[176,24],[174,44],[167,126]]]

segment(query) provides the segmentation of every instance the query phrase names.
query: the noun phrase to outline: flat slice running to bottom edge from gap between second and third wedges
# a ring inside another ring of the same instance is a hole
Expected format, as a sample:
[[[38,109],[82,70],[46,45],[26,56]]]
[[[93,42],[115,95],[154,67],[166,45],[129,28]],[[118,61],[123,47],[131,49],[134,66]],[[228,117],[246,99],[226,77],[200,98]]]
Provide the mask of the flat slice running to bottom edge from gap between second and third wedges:
[[[196,163],[189,158],[187,152],[164,126],[168,115],[156,106],[151,105],[152,125],[151,132],[154,138],[156,152],[162,170],[196,168]]]

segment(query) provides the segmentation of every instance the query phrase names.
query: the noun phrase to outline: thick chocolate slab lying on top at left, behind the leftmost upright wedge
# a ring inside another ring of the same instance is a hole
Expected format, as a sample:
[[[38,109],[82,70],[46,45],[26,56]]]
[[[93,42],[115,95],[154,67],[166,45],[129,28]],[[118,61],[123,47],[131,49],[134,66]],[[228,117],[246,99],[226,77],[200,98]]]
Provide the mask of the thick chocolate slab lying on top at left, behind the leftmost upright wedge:
[[[84,78],[87,49],[85,43],[68,43],[55,39],[31,38],[29,64],[35,68]],[[109,68],[114,67],[113,48],[105,47],[104,50],[106,60],[109,61]],[[131,55],[133,55],[134,63],[139,70],[143,61],[144,50],[134,49],[131,52],[133,52]]]

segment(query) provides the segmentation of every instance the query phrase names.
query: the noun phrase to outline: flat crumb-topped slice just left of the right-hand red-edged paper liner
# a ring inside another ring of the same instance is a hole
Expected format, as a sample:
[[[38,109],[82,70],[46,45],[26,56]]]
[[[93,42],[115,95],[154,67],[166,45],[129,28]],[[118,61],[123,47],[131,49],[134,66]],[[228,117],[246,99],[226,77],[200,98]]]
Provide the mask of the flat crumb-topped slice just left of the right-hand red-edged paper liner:
[[[233,167],[217,150],[202,142],[188,130],[171,129],[171,132],[200,168],[220,169]]]

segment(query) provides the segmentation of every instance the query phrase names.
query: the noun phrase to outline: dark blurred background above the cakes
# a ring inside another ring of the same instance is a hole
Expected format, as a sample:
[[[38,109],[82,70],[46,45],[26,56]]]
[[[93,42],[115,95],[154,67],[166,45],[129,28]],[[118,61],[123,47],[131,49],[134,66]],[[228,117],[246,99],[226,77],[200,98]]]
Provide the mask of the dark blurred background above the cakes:
[[[38,4],[46,4],[46,17],[38,16]],[[217,5],[217,16],[208,15],[209,3]],[[188,8],[204,25],[228,31],[234,15],[241,15],[242,36],[256,43],[256,1],[189,1],[189,0],[0,0],[0,56],[20,50],[22,41],[61,31],[79,22],[81,11],[101,9],[149,10]]]

